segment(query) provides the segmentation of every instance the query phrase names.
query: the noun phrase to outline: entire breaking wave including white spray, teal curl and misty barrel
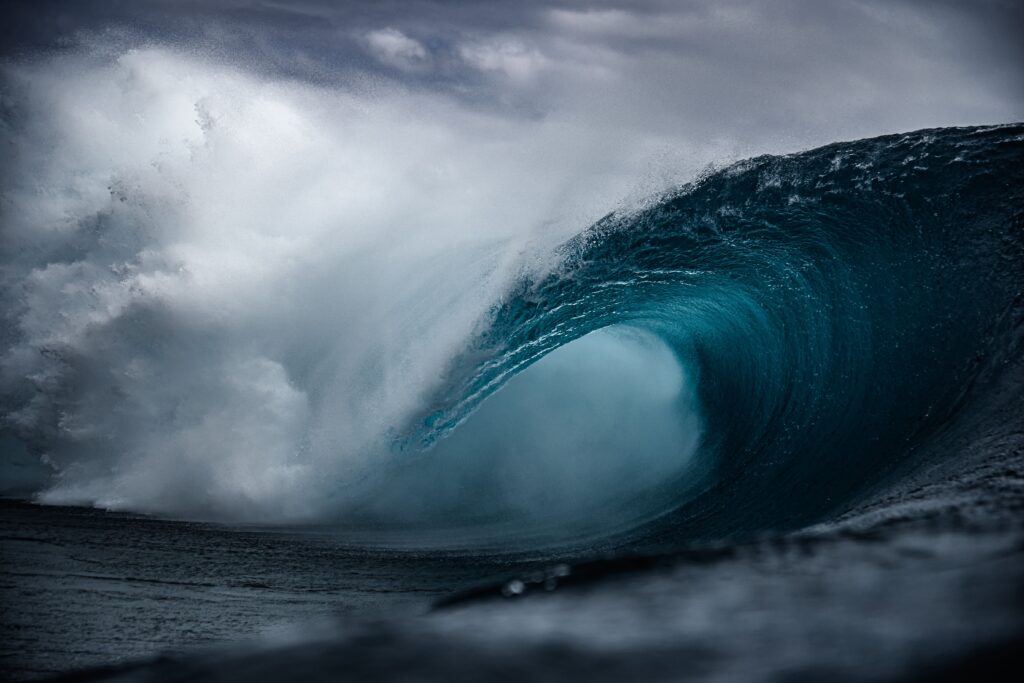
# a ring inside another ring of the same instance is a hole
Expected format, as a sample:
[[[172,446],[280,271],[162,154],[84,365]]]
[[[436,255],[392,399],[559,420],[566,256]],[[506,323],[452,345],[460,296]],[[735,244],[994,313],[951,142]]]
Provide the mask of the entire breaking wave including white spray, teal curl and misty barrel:
[[[44,502],[444,545],[786,528],[954,457],[1017,357],[1020,125],[762,157],[570,237],[623,187],[481,180],[566,156],[557,126],[54,59],[0,111],[0,444]]]

